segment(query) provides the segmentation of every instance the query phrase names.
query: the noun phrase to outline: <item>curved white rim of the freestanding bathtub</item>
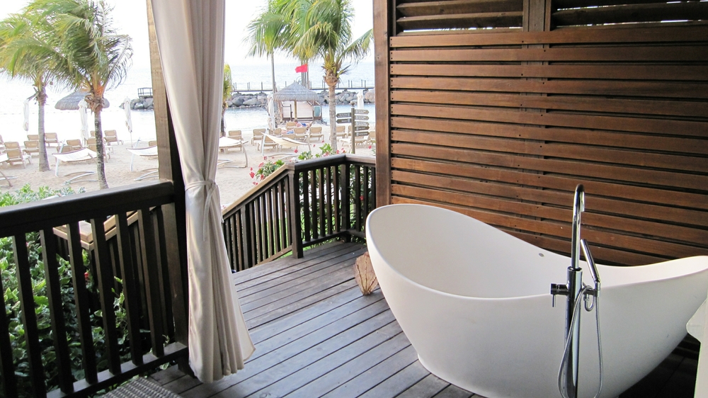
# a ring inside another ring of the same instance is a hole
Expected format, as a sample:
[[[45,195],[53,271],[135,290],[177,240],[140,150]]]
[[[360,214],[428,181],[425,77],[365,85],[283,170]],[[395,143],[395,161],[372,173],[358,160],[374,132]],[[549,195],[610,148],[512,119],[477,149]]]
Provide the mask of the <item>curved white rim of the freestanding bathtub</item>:
[[[433,209],[442,210],[443,212],[452,212],[452,213],[454,213],[454,214],[457,215],[457,216],[469,217],[469,218],[471,218],[472,220],[475,220],[475,221],[477,221],[477,222],[481,222],[482,224],[485,224],[485,225],[488,226],[488,227],[494,228],[494,229],[498,230],[499,232],[503,232],[504,234],[507,234],[509,237],[512,237],[512,238],[514,238],[514,239],[518,239],[518,240],[520,240],[520,241],[523,241],[523,240],[522,240],[522,239],[519,239],[519,238],[517,238],[517,237],[514,237],[513,235],[508,234],[507,232],[505,232],[505,231],[503,231],[503,230],[501,230],[501,229],[498,229],[498,228],[494,227],[493,225],[487,224],[486,222],[477,220],[476,218],[470,217],[469,215],[464,215],[464,214],[459,213],[459,212],[455,212],[455,211],[452,211],[452,210],[449,210],[449,209],[445,209],[444,207],[437,207],[437,206],[432,206],[432,205],[421,205],[421,204],[418,204],[418,203],[396,203],[396,204],[392,204],[392,205],[385,205],[385,206],[382,206],[382,207],[377,207],[377,208],[375,208],[374,210],[372,210],[372,212],[370,212],[369,215],[368,215],[367,218],[366,218],[365,231],[366,231],[367,248],[370,247],[370,246],[373,247],[373,248],[375,248],[377,254],[379,254],[379,256],[382,257],[382,259],[384,260],[384,263],[386,263],[387,267],[390,268],[394,273],[396,273],[397,275],[399,275],[401,278],[404,278],[407,282],[409,282],[409,283],[411,283],[411,284],[413,284],[413,285],[416,285],[416,286],[419,287],[419,288],[423,288],[424,290],[426,290],[426,291],[428,291],[428,292],[436,292],[436,293],[438,293],[438,294],[440,294],[440,295],[444,295],[444,296],[447,296],[447,297],[451,297],[451,298],[461,298],[461,299],[465,299],[465,300],[521,300],[521,299],[529,299],[529,298],[532,298],[532,297],[552,297],[552,295],[551,295],[551,293],[550,293],[550,285],[549,285],[549,292],[548,292],[548,293],[537,294],[537,295],[523,295],[523,296],[513,296],[513,297],[476,297],[476,296],[469,296],[469,295],[457,295],[457,294],[455,294],[455,293],[450,293],[450,292],[443,292],[442,290],[436,290],[436,289],[430,288],[430,287],[428,287],[428,286],[426,286],[426,285],[422,285],[421,283],[418,283],[418,282],[416,282],[415,280],[412,280],[411,278],[409,278],[409,277],[407,277],[406,275],[404,275],[403,273],[401,273],[401,271],[399,271],[396,267],[390,265],[389,261],[387,261],[387,260],[381,255],[381,251],[378,249],[378,246],[377,246],[377,244],[375,243],[375,239],[372,239],[372,237],[370,236],[370,230],[371,230],[371,229],[370,229],[370,220],[371,220],[372,215],[375,215],[375,213],[376,213],[376,212],[379,212],[379,210],[382,210],[382,209],[387,208],[387,207],[394,207],[394,206],[395,206],[395,207],[398,207],[398,206],[405,206],[405,207],[433,207]],[[552,254],[556,254],[556,255],[559,255],[559,256],[563,256],[564,258],[567,258],[568,261],[571,260],[570,257],[564,256],[563,254],[558,254],[558,253],[554,253],[553,251],[549,251],[549,250],[547,250],[547,249],[542,249],[542,248],[540,248],[540,247],[538,247],[538,246],[535,246],[535,245],[533,245],[533,244],[528,243],[527,241],[523,241],[523,242],[524,242],[525,244],[529,244],[529,245],[535,247],[535,248],[538,249],[538,250],[542,250],[542,251],[546,251],[546,252],[548,252],[548,253],[552,253]],[[658,265],[660,265],[660,264],[667,263],[667,262],[670,262],[670,261],[681,261],[681,260],[687,260],[687,259],[689,259],[689,258],[707,258],[707,259],[708,259],[708,256],[690,256],[690,257],[675,258],[675,259],[673,259],[673,260],[666,260],[666,261],[661,261],[661,262],[658,262],[658,263],[644,264],[644,265],[641,265],[641,266],[606,266],[606,265],[603,265],[603,264],[598,264],[598,266],[601,266],[601,267],[620,267],[620,268],[624,268],[624,267],[658,266]],[[695,275],[695,274],[697,274],[697,273],[705,272],[706,270],[708,270],[708,264],[707,264],[707,266],[705,266],[704,268],[702,268],[702,269],[700,269],[700,270],[697,270],[697,271],[690,272],[690,273],[682,273],[682,274],[680,274],[680,275],[673,275],[673,276],[670,276],[670,277],[668,277],[668,278],[644,280],[644,281],[641,281],[641,282],[632,282],[632,283],[622,283],[621,285],[610,285],[610,286],[605,287],[604,289],[614,289],[614,288],[619,288],[619,287],[624,287],[624,286],[636,286],[636,285],[643,285],[643,284],[653,283],[653,282],[657,282],[657,281],[660,281],[660,280],[673,280],[673,279],[678,279],[678,278],[684,278],[684,277],[688,277],[688,276],[691,276],[691,275]],[[601,272],[600,272],[600,276],[602,276],[602,273],[601,273]],[[549,283],[550,283],[550,282],[549,282]],[[601,291],[602,291],[602,290],[600,290],[600,292],[601,292]],[[600,293],[600,295],[601,295],[601,293]]]

